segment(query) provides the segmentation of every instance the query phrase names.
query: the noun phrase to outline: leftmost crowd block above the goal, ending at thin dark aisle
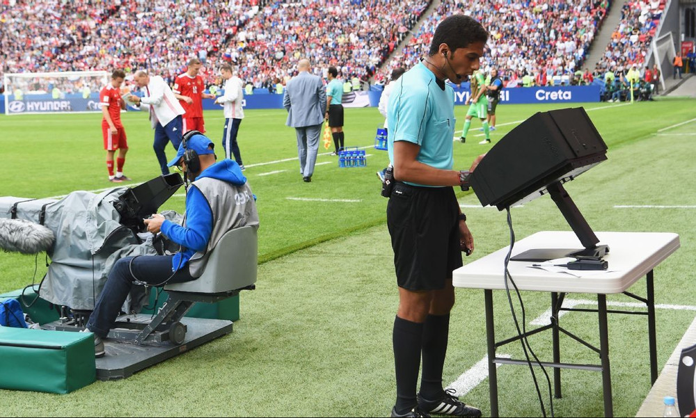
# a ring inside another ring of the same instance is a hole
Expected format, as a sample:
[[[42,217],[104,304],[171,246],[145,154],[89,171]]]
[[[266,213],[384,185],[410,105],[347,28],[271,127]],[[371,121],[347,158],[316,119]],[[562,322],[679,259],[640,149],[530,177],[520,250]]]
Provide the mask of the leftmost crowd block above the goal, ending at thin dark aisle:
[[[196,56],[216,76],[218,49],[259,0],[8,1],[0,8],[1,72],[150,70],[168,81]],[[17,42],[19,40],[19,42]]]

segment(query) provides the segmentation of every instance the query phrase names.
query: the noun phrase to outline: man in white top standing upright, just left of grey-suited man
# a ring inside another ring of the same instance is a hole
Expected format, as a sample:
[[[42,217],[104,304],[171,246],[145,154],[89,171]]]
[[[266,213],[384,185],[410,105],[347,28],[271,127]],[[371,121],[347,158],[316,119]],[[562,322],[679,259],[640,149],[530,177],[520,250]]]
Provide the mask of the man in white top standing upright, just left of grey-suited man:
[[[242,124],[244,119],[244,109],[242,108],[242,99],[244,93],[242,88],[242,80],[239,77],[232,75],[232,66],[223,64],[220,67],[222,78],[225,79],[225,94],[215,99],[215,103],[223,105],[223,113],[225,114],[225,128],[222,134],[222,147],[225,150],[225,158],[232,159],[235,156],[235,161],[239,164],[239,168],[244,170],[242,164],[242,154],[239,152],[237,144],[237,132],[239,132],[239,124]]]

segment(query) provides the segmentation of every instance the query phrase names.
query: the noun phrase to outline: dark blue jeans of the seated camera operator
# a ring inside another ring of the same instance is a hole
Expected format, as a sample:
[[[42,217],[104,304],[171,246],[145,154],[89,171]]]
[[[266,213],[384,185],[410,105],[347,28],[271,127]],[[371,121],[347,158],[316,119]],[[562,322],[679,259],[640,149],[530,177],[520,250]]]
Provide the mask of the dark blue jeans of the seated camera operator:
[[[184,266],[176,273],[172,273],[173,257],[173,255],[141,255],[124,257],[113,264],[102,294],[89,317],[87,328],[102,338],[109,334],[136,278],[139,282],[152,286],[164,286],[165,282],[181,283],[194,280],[189,273],[189,266]]]

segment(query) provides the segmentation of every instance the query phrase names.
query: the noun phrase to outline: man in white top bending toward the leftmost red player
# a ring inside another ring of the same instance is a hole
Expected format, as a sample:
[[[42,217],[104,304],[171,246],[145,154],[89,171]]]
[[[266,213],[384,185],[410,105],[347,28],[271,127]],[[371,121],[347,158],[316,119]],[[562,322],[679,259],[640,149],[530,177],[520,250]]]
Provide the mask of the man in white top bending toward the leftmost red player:
[[[147,72],[139,70],[135,73],[134,80],[140,88],[145,88],[145,96],[133,95],[131,99],[141,108],[144,104],[150,112],[152,129],[155,129],[155,142],[152,147],[155,149],[155,156],[159,161],[162,175],[168,175],[168,161],[164,149],[167,143],[171,142],[174,150],[179,150],[184,135],[181,118],[181,115],[184,114],[184,108],[179,104],[174,92],[162,77],[150,77]]]

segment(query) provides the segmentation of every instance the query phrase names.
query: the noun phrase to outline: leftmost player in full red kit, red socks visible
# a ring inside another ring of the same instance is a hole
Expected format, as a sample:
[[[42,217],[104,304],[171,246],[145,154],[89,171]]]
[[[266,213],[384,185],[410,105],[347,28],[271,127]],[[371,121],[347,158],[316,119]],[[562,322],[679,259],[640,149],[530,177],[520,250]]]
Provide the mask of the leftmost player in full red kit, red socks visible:
[[[102,134],[104,134],[104,150],[106,150],[106,169],[109,170],[109,182],[125,182],[130,179],[123,175],[123,165],[126,162],[128,142],[126,131],[121,124],[121,109],[126,108],[121,99],[120,87],[126,74],[122,70],[114,70],[111,73],[111,83],[107,84],[99,93],[99,101],[102,104]],[[116,175],[113,174],[113,154],[118,150],[116,159]]]

